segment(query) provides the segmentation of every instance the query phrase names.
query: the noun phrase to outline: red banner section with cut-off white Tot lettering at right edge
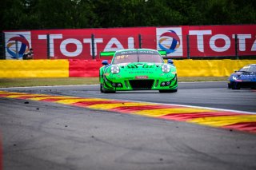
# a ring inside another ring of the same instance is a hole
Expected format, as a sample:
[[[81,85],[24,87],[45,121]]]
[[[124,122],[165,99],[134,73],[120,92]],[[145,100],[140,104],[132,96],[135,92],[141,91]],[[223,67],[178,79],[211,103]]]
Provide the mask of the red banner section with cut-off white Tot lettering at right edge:
[[[186,26],[190,56],[256,55],[256,25],[249,26]]]

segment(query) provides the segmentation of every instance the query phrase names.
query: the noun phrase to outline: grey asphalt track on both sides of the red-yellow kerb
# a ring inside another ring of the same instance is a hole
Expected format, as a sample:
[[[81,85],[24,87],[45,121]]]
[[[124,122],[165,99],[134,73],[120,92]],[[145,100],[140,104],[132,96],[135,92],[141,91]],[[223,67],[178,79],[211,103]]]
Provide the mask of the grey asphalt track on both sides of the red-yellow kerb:
[[[178,93],[105,94],[98,85],[0,90],[256,113],[256,91],[226,89],[226,82],[180,83]],[[0,97],[0,130],[4,169],[256,169],[254,133],[186,122]]]

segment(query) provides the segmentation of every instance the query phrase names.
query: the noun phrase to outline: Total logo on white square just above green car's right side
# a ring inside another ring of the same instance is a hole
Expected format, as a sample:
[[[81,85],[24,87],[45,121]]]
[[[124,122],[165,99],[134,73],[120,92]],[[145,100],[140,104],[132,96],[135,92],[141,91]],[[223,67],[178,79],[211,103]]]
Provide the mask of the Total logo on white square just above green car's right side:
[[[167,56],[182,56],[182,28],[157,28],[158,50],[165,50]]]

